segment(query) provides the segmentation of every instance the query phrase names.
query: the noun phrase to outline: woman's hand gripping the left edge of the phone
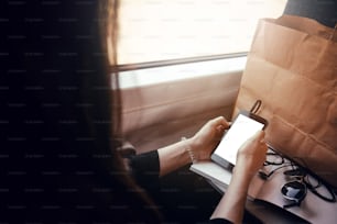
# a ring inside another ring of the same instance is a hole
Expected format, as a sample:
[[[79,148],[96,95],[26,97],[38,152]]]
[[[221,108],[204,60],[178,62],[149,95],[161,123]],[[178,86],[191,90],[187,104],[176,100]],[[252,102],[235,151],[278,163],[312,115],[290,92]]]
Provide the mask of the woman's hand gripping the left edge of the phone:
[[[208,121],[192,138],[187,139],[197,160],[207,160],[211,152],[220,142],[224,131],[229,128],[229,123],[224,116]]]

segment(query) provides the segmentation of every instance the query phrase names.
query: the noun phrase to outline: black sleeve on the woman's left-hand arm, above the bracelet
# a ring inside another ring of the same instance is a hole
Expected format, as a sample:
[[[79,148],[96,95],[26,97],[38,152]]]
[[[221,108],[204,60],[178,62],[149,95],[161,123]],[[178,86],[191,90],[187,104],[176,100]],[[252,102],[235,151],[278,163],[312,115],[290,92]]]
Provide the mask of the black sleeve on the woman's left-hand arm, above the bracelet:
[[[160,163],[157,150],[134,155],[129,160],[131,175],[145,189],[159,187]]]

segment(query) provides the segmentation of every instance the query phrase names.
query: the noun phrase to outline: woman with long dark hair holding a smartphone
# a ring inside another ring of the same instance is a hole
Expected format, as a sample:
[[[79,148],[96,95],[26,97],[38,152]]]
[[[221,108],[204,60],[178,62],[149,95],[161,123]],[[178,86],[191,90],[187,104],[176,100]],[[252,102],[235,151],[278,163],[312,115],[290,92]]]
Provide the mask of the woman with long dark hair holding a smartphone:
[[[0,222],[164,222],[146,186],[139,186],[144,176],[138,165],[152,160],[159,173],[153,180],[189,164],[188,150],[207,159],[228,127],[224,117],[214,119],[189,139],[132,158],[130,175],[117,150],[120,102],[118,91],[110,98],[107,76],[105,40],[116,36],[116,23],[108,21],[117,3],[1,7],[1,21],[9,23],[1,23],[8,36],[0,58]],[[264,160],[263,136],[258,133],[239,150],[230,187],[210,222],[241,221],[248,184]]]

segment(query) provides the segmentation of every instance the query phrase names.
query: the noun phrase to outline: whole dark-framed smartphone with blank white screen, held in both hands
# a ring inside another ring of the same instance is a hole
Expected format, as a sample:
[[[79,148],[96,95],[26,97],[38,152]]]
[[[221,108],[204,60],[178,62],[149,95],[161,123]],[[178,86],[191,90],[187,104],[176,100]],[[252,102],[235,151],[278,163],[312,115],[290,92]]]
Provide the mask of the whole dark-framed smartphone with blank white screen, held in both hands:
[[[211,154],[211,160],[226,168],[233,167],[241,145],[267,126],[265,119],[248,111],[240,111]]]

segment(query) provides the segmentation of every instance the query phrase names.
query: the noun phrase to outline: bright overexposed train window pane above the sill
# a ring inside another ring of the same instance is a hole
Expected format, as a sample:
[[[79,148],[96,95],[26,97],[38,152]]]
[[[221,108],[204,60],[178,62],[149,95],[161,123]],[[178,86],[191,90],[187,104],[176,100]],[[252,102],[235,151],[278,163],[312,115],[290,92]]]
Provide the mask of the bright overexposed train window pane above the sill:
[[[118,64],[248,52],[260,18],[286,0],[121,0]]]

